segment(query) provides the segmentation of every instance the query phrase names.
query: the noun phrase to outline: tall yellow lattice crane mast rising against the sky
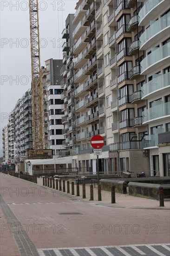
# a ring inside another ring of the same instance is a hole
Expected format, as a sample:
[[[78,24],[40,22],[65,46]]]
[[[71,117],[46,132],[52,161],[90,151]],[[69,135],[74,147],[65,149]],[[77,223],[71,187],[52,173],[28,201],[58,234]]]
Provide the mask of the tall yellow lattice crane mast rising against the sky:
[[[32,112],[33,112],[33,152],[39,155],[43,151],[43,123],[41,97],[41,69],[39,47],[39,8],[38,0],[29,0],[31,66],[32,66]]]

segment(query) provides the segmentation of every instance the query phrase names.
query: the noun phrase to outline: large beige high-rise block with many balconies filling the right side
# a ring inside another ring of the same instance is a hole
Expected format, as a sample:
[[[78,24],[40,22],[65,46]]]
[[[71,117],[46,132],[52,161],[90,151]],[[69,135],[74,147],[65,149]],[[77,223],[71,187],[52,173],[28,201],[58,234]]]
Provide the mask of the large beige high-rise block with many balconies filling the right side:
[[[67,23],[62,122],[72,167],[96,172],[90,140],[100,134],[100,171],[170,175],[169,1],[79,0]]]

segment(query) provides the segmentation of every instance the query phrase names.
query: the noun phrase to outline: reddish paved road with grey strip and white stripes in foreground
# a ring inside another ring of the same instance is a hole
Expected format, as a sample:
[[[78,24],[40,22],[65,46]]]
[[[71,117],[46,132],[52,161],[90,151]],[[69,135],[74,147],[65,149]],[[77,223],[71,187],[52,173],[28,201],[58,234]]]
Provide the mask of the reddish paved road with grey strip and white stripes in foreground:
[[[0,256],[169,255],[168,209],[83,202],[3,174],[0,192]]]

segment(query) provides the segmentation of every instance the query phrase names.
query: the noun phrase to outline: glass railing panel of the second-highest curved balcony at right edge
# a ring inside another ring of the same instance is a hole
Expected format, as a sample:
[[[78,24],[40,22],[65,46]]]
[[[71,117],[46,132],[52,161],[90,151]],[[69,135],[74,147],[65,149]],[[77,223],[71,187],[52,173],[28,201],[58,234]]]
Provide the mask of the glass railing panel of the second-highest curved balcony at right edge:
[[[144,44],[147,44],[150,38],[161,33],[166,27],[170,26],[170,13],[167,13],[159,20],[151,21],[150,27],[148,27],[144,33],[139,38],[139,46],[142,47]]]

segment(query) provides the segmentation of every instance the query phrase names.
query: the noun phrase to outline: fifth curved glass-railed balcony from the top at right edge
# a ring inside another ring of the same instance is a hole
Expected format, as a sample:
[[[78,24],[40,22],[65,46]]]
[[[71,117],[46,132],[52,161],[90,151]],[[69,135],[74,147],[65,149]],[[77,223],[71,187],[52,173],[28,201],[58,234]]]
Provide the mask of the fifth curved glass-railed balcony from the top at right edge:
[[[155,104],[157,104],[157,101],[155,102]],[[159,102],[158,105],[144,110],[142,115],[143,124],[154,122],[156,120],[164,120],[166,118],[170,118],[170,102]]]

